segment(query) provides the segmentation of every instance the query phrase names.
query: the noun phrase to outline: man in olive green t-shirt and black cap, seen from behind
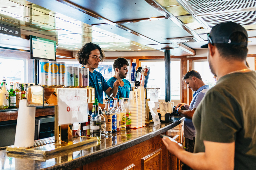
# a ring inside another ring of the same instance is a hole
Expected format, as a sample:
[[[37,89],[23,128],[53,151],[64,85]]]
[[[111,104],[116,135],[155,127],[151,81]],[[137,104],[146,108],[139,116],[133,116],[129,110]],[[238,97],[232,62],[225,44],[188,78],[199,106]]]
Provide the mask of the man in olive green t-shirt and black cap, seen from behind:
[[[218,77],[193,115],[195,153],[163,138],[167,149],[195,170],[256,169],[256,72],[246,64],[248,35],[232,22],[208,35],[209,66]]]

